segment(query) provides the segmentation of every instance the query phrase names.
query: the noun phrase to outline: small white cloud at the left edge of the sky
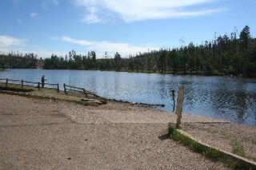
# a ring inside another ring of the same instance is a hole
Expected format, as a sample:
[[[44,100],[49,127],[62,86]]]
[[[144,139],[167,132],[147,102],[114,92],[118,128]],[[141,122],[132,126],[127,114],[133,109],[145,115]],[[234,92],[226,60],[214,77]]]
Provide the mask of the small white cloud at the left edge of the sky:
[[[0,35],[0,48],[25,45],[26,41],[26,39],[12,38],[10,36]]]

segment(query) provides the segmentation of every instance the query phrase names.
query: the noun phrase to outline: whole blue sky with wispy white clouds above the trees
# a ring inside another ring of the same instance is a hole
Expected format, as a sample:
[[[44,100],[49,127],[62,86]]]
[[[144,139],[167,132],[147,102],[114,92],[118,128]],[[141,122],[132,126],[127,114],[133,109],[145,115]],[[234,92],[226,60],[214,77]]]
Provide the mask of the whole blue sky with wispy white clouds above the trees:
[[[256,37],[255,0],[0,0],[0,53],[122,57],[238,34]]]

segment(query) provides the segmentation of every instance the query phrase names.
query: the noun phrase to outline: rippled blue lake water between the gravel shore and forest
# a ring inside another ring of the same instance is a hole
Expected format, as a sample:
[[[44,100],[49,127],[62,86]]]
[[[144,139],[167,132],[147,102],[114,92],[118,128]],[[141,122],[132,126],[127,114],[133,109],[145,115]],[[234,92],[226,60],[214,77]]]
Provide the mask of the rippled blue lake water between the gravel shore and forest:
[[[10,69],[2,78],[63,83],[84,87],[102,97],[150,104],[173,110],[170,89],[185,87],[183,113],[256,126],[256,80],[234,77],[174,76],[80,70]]]

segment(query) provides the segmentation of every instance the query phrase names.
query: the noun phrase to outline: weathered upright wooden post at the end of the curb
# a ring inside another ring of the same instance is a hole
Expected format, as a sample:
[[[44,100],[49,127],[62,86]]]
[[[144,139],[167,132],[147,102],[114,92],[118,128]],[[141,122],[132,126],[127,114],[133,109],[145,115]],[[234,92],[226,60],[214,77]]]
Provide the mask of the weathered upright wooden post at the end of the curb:
[[[176,128],[180,128],[180,125],[182,124],[183,93],[184,93],[184,87],[180,86],[178,88],[178,99],[177,99],[177,107],[176,107],[176,113],[175,113],[177,114]]]

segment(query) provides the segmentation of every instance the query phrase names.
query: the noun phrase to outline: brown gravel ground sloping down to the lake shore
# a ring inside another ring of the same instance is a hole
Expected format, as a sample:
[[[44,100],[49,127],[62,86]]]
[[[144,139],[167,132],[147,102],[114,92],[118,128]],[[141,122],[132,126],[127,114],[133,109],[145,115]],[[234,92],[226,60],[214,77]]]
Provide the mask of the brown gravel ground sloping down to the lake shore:
[[[166,139],[176,115],[155,109],[114,102],[82,106],[0,93],[0,120],[0,169],[228,169]],[[182,122],[186,132],[214,144],[218,139],[208,133],[219,132],[212,126],[231,125],[190,115],[183,115]],[[255,128],[242,127],[242,138],[255,149]],[[240,125],[231,128],[241,130]]]

